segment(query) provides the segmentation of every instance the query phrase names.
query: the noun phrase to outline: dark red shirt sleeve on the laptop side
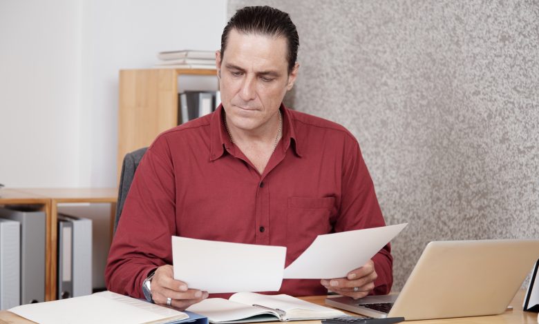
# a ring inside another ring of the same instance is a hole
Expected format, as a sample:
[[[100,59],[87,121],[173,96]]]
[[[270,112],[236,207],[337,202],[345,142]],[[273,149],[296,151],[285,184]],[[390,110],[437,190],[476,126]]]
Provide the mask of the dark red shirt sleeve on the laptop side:
[[[357,141],[350,135],[344,143],[341,205],[335,232],[385,226],[375,186]],[[372,257],[378,278],[373,294],[388,294],[393,285],[393,256],[388,243]]]

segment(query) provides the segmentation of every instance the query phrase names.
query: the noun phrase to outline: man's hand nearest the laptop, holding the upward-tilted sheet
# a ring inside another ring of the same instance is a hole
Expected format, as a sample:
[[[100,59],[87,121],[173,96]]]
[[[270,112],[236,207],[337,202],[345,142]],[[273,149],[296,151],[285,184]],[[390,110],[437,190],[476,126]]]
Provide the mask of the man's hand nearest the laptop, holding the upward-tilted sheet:
[[[369,260],[363,267],[348,272],[346,278],[322,279],[320,283],[332,292],[357,299],[367,296],[375,289],[377,278],[375,263]]]

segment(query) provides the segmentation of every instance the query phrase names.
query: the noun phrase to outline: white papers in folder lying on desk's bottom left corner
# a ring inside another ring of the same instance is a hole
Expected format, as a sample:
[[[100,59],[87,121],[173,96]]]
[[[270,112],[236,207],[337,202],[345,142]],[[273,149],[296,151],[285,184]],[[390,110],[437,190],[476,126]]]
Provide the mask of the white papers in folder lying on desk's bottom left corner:
[[[109,291],[17,306],[9,311],[36,323],[207,323],[198,314]]]

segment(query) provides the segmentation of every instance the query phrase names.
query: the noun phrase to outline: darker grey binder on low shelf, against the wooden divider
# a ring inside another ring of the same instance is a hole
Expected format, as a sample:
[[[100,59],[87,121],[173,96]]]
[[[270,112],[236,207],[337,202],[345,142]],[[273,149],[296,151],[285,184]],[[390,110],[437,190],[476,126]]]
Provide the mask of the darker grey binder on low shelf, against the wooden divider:
[[[45,301],[45,212],[33,205],[8,205],[0,208],[0,218],[21,226],[21,305]]]

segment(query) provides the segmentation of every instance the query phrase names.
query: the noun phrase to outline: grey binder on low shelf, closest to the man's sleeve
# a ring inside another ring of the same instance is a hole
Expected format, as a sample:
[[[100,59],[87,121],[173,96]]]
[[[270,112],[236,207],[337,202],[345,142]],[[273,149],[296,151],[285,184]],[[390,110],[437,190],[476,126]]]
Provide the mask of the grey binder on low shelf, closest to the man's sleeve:
[[[92,221],[58,215],[58,298],[92,293]]]

